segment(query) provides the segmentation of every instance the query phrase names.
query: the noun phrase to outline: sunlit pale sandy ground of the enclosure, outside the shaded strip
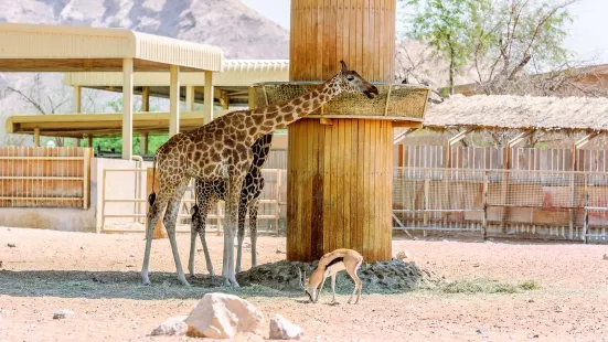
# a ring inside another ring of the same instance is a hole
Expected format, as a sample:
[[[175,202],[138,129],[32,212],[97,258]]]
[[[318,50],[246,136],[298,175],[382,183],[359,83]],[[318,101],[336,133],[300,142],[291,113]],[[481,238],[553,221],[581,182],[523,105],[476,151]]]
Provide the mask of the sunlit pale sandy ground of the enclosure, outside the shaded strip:
[[[210,236],[215,270],[221,271],[222,237]],[[154,241],[151,287],[139,286],[143,236],[95,235],[0,227],[0,341],[175,341],[151,338],[169,317],[188,314],[209,291],[231,291],[266,317],[281,313],[323,341],[605,341],[608,340],[607,246],[394,241],[393,255],[412,260],[447,281],[490,278],[509,284],[534,280],[541,289],[516,293],[446,293],[415,290],[364,293],[358,306],[330,306],[290,295],[225,288],[184,289],[174,277],[167,239]],[[9,247],[14,244],[14,247]],[[179,236],[186,264],[189,236]],[[258,238],[258,260],[285,258],[285,238]],[[249,267],[248,249],[245,268]],[[202,250],[196,270],[206,274]],[[329,282],[329,281],[328,281]],[[326,285],[329,288],[329,285]],[[53,312],[74,316],[53,320]],[[254,336],[242,336],[256,340]]]

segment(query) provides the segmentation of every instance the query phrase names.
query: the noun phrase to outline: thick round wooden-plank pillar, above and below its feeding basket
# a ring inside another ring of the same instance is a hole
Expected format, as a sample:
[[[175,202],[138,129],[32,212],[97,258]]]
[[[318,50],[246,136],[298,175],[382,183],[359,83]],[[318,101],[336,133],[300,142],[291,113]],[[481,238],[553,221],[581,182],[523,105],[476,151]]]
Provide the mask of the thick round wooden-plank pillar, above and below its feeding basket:
[[[395,0],[292,0],[289,78],[324,81],[340,60],[393,82]],[[288,126],[287,258],[337,248],[391,259],[393,121],[302,119]]]

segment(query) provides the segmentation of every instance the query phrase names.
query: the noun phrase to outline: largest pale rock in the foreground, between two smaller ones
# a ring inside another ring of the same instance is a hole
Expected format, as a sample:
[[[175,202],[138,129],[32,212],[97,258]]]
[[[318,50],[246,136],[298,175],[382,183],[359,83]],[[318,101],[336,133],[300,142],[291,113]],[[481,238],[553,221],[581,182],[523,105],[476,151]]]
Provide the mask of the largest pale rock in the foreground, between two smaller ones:
[[[185,319],[189,336],[233,339],[241,332],[264,334],[264,314],[233,295],[207,293]]]

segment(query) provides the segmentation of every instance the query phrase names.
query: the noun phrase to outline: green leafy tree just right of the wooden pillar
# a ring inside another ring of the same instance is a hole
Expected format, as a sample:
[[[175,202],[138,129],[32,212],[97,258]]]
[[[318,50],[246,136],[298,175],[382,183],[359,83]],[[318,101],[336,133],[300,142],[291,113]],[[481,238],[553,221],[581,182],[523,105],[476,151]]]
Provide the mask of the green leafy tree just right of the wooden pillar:
[[[471,38],[479,30],[480,13],[490,0],[402,0],[418,8],[409,20],[408,35],[425,44],[449,63],[449,87],[454,94],[454,78],[473,54]]]

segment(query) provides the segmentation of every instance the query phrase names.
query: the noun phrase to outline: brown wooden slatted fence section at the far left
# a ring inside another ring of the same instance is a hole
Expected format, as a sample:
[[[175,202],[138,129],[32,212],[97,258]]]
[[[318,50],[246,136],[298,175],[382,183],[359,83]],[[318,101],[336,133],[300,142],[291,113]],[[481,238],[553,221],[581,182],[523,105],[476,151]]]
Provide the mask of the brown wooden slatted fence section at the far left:
[[[0,207],[89,206],[89,148],[1,147]]]

